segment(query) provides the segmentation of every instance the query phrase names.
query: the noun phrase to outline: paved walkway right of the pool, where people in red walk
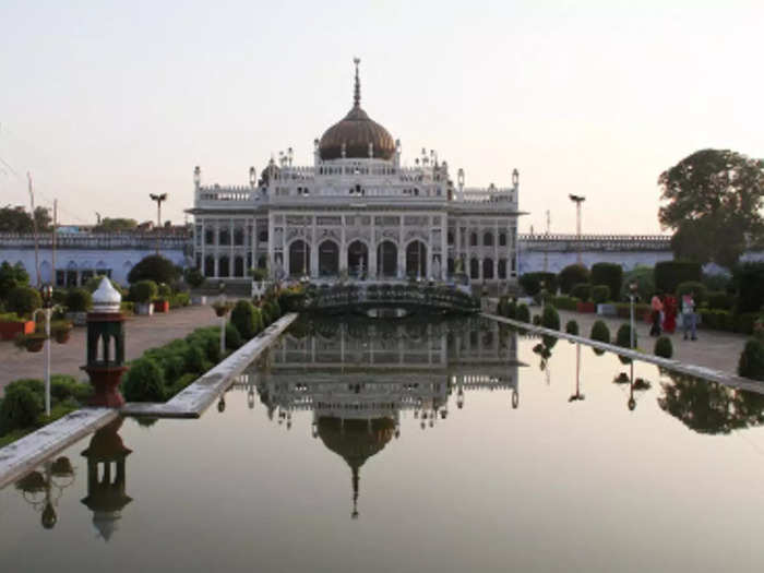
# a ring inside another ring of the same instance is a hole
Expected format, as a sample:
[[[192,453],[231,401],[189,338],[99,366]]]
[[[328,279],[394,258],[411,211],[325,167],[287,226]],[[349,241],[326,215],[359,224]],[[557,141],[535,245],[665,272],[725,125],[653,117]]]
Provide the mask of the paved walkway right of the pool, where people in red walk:
[[[532,308],[532,314],[539,314],[538,307]],[[606,322],[610,329],[611,341],[616,339],[618,327],[628,323],[628,320],[618,318],[597,317],[594,313],[560,311],[560,329],[564,332],[565,323],[575,320],[582,336],[588,337],[592,324],[597,319]],[[645,353],[653,354],[655,338],[649,335],[649,324],[644,321],[636,322],[636,345]],[[697,341],[684,341],[681,329],[673,334],[666,334],[673,345],[673,359],[681,362],[713,368],[737,375],[738,360],[743,351],[748,336],[712,330],[699,330]]]

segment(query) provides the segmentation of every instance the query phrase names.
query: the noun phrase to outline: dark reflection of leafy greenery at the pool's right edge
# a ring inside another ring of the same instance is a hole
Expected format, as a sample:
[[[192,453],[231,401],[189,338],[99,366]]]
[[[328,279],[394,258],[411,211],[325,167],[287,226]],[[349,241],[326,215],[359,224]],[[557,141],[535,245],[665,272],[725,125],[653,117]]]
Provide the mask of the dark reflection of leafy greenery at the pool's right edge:
[[[764,395],[701,378],[669,373],[660,384],[660,408],[700,433],[729,433],[764,422]]]

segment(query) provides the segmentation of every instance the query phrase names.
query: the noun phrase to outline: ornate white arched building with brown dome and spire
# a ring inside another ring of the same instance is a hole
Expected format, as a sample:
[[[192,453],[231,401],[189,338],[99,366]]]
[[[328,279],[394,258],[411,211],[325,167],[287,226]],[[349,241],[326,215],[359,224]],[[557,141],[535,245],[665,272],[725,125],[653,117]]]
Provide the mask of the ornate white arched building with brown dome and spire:
[[[313,141],[313,165],[273,157],[249,186],[202,184],[194,169],[193,261],[203,274],[243,278],[471,280],[508,287],[517,277],[518,172],[487,189],[452,179],[422,150],[403,167],[401,141],[361,108],[356,75],[350,111]],[[508,174],[509,176],[509,174]]]

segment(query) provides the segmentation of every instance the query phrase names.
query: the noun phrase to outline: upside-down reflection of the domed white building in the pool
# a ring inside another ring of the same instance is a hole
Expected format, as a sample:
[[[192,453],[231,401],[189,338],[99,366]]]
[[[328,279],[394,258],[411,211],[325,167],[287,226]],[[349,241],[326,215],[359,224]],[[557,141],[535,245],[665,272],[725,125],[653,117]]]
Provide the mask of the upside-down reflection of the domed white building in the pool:
[[[449,398],[508,391],[520,405],[517,335],[494,321],[301,320],[235,387],[255,392],[267,415],[289,430],[310,411],[311,433],[350,468],[351,517],[358,517],[360,468],[401,435],[410,411],[422,430],[449,417]]]

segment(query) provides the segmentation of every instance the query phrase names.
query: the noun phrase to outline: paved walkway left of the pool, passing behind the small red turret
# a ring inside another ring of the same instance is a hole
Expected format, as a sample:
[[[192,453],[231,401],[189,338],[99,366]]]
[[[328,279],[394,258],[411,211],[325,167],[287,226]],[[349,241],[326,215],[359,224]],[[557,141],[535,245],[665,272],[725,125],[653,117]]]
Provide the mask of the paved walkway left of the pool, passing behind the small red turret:
[[[210,307],[186,307],[166,314],[131,317],[126,323],[126,359],[140,357],[148,348],[181,338],[201,326],[211,326],[219,321]],[[50,347],[50,371],[53,374],[70,374],[87,380],[80,367],[85,363],[85,332],[76,327],[67,344],[52,343]],[[12,342],[0,343],[0,391],[20,378],[39,378],[45,371],[45,354],[27,353],[16,348]]]

